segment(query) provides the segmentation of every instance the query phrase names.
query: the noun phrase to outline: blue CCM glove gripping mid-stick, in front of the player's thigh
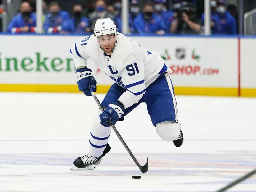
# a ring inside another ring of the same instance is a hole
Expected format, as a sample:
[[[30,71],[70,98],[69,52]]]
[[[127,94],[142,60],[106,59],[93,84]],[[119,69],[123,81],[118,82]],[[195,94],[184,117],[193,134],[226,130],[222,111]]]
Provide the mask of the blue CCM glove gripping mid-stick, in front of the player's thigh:
[[[110,127],[111,125],[107,122],[108,119],[116,124],[119,118],[124,114],[124,108],[118,103],[110,103],[108,107],[100,114],[100,124],[104,127]]]

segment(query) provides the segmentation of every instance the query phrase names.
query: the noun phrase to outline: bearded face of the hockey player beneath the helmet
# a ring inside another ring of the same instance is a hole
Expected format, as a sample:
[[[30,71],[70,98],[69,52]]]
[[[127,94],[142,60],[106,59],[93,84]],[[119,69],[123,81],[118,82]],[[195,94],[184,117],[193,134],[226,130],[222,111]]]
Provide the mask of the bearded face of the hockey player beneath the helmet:
[[[102,35],[98,37],[98,42],[100,44],[100,47],[104,50],[104,52],[111,53],[116,43],[116,36],[114,36],[113,34]]]

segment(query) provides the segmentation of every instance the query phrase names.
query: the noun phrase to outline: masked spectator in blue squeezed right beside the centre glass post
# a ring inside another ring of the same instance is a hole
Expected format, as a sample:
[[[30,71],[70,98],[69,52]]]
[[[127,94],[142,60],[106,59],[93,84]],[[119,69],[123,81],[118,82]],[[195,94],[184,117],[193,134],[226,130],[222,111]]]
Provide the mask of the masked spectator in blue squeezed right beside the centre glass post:
[[[134,28],[134,20],[140,14],[140,7],[138,0],[130,1],[130,13],[129,13],[129,29],[131,33],[138,33]]]

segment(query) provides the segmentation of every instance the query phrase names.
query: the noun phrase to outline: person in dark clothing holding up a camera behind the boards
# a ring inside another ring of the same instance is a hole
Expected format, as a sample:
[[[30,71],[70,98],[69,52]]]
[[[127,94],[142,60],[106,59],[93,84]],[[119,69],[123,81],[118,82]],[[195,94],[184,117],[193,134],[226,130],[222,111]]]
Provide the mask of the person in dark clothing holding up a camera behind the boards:
[[[194,4],[185,3],[174,12],[174,20],[170,27],[171,34],[199,34],[201,21],[196,18]]]

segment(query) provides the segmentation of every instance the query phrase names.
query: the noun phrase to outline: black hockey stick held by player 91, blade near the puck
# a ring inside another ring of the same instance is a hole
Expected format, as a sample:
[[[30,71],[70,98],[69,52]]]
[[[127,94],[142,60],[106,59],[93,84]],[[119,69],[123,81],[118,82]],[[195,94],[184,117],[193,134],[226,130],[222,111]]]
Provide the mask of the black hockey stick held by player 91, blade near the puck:
[[[96,101],[96,103],[98,104],[100,110],[103,112],[104,108],[102,107],[100,101],[98,100],[97,96],[95,95],[95,93],[92,91],[92,86],[89,86],[89,90],[92,94],[92,97],[94,98],[94,100]],[[121,141],[121,143],[124,145],[124,147],[126,148],[127,152],[130,154],[130,156],[132,157],[133,161],[135,162],[135,164],[139,167],[140,171],[142,173],[145,173],[148,171],[148,157],[147,157],[147,163],[144,166],[141,166],[140,163],[138,162],[138,160],[135,158],[135,156],[132,154],[132,151],[128,148],[128,146],[126,145],[126,143],[124,142],[123,138],[121,137],[121,135],[119,134],[119,132],[117,131],[115,125],[112,123],[112,121],[108,120],[108,122],[111,124],[112,129],[114,130],[114,132],[116,133],[117,137],[119,138],[119,140]]]

